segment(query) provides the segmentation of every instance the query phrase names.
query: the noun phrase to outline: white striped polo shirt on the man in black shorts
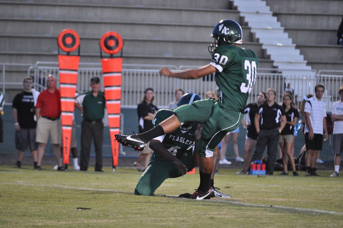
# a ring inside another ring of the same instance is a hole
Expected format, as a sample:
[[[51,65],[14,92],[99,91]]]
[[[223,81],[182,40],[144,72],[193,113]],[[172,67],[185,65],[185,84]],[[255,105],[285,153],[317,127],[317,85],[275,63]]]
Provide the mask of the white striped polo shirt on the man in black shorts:
[[[323,119],[326,117],[326,104],[324,101],[311,97],[305,103],[305,112],[310,113],[310,123],[314,134],[323,134]],[[309,133],[307,123],[305,124],[305,133]]]

